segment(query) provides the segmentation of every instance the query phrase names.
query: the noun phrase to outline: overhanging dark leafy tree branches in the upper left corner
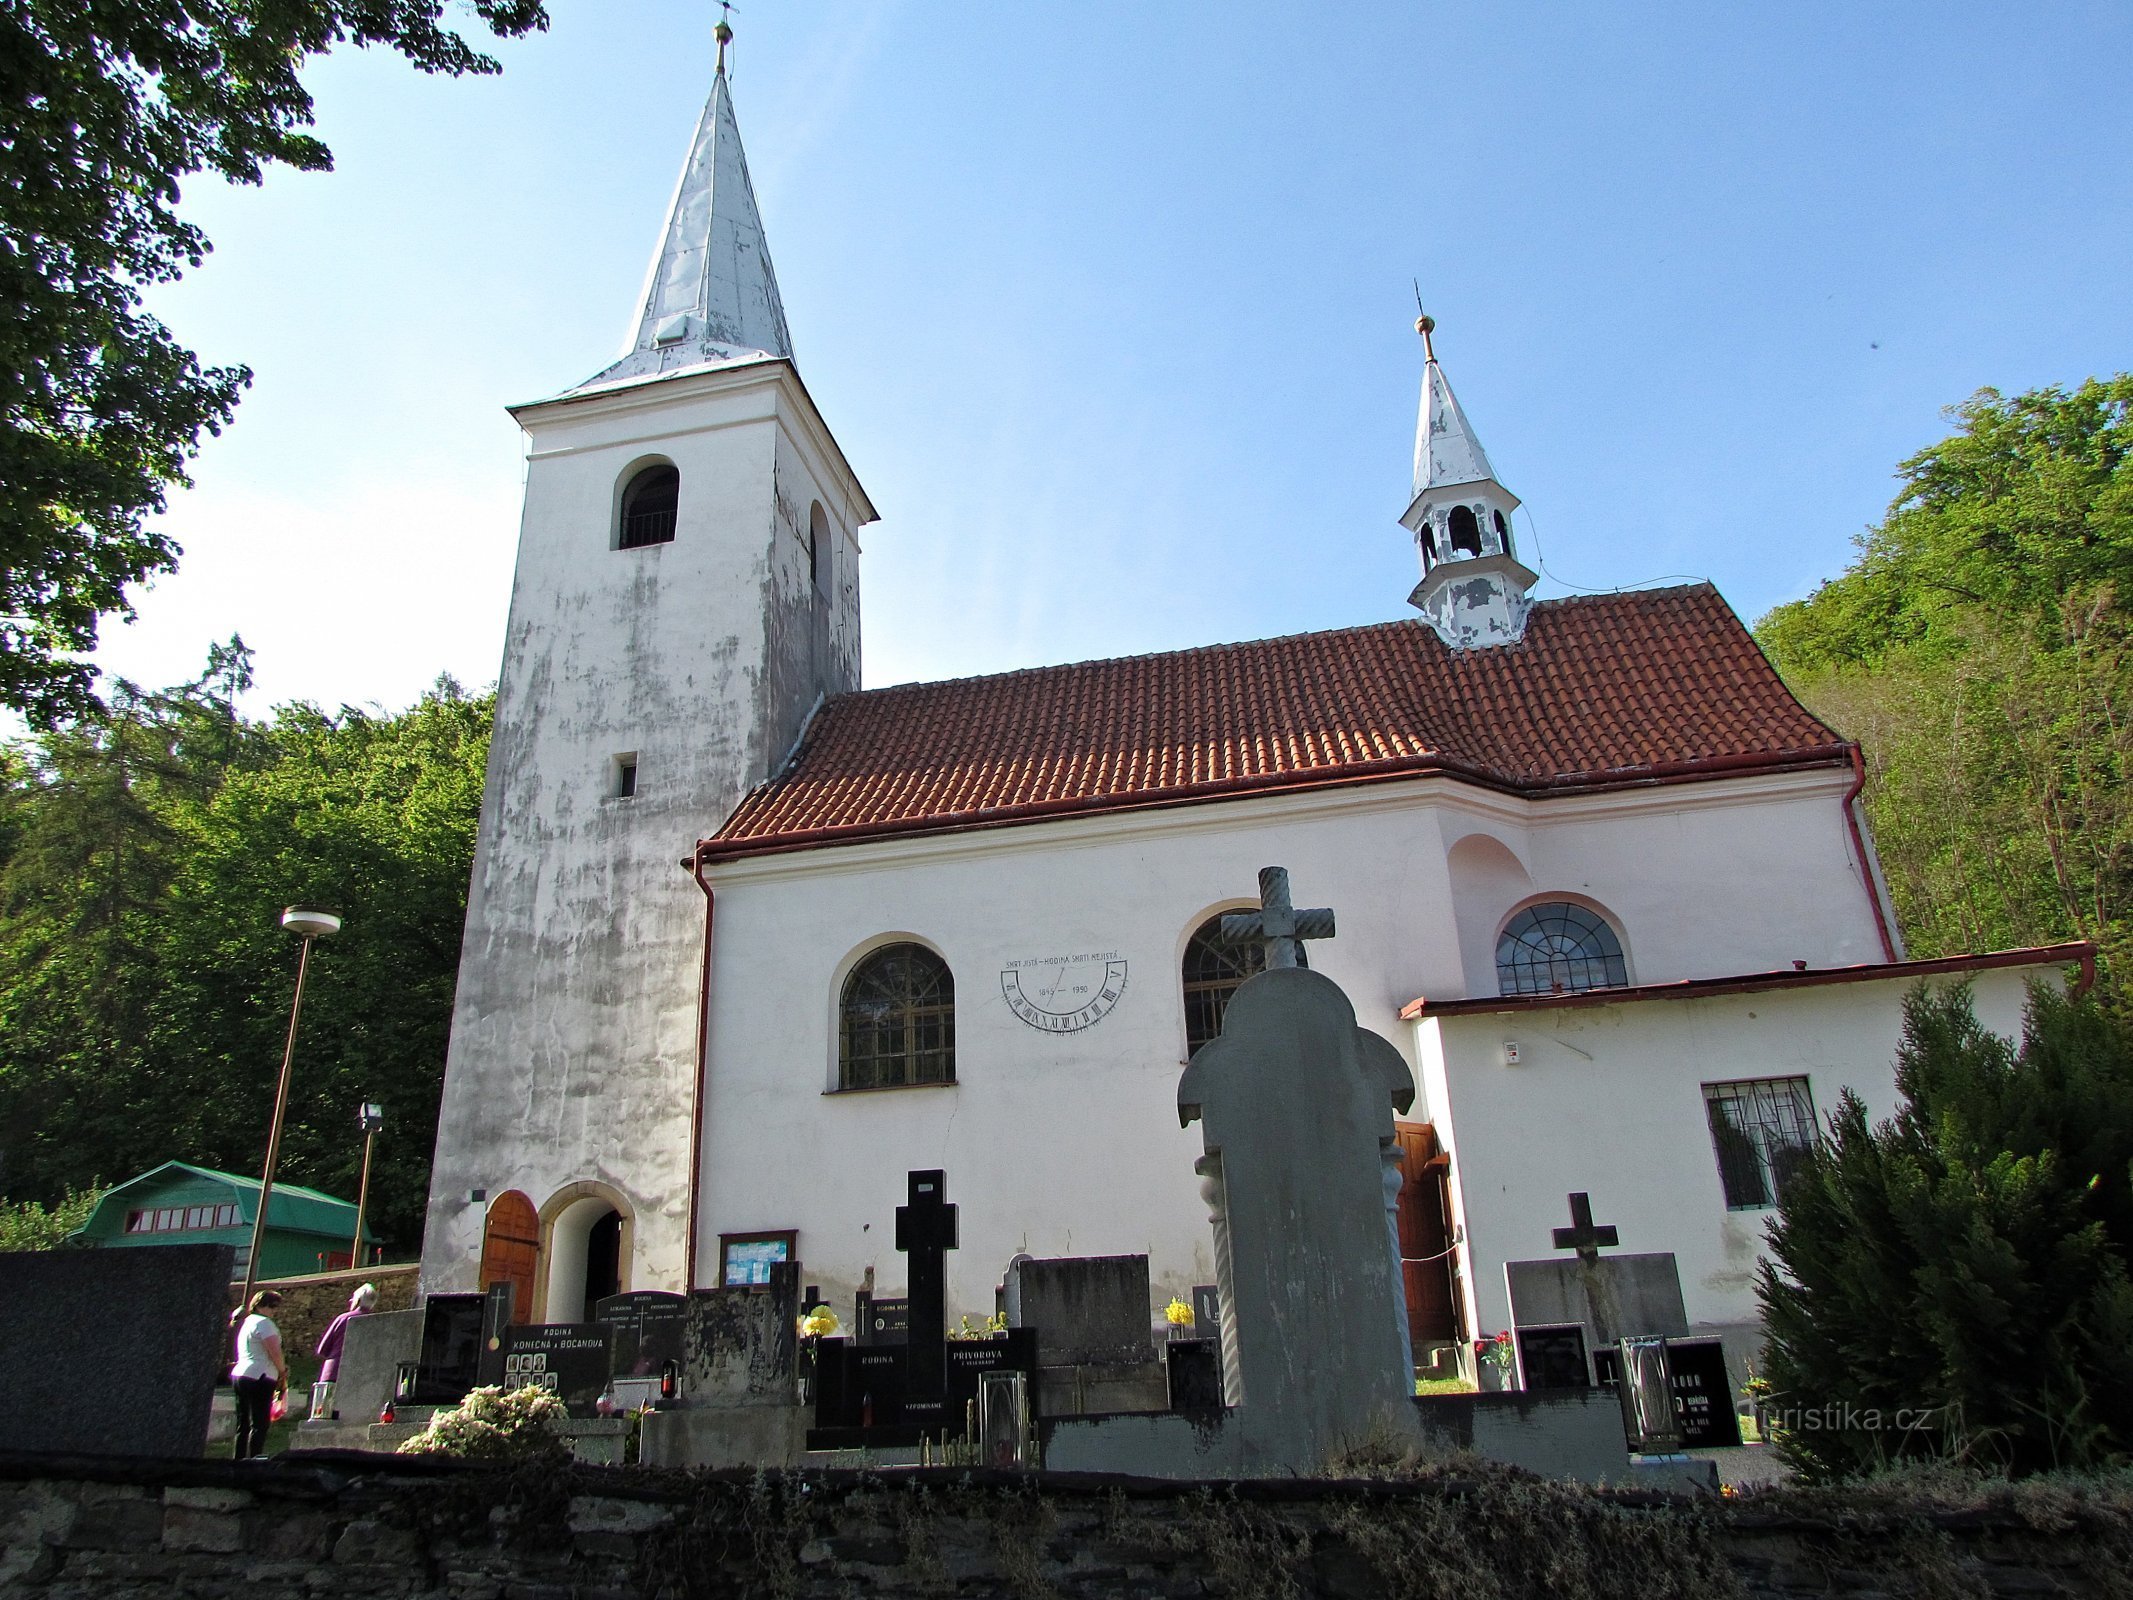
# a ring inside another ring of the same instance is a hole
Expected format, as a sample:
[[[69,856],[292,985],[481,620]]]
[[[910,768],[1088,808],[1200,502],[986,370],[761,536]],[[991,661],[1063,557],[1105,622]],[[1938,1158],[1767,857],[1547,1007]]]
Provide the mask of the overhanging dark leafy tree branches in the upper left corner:
[[[250,382],[201,367],[141,286],[198,267],[177,215],[194,173],[258,183],[333,164],[299,70],[388,45],[424,73],[495,73],[437,0],[11,0],[0,6],[0,704],[49,727],[85,713],[75,657],[126,585],[177,563],[143,529]],[[488,32],[546,26],[540,0],[474,0]]]

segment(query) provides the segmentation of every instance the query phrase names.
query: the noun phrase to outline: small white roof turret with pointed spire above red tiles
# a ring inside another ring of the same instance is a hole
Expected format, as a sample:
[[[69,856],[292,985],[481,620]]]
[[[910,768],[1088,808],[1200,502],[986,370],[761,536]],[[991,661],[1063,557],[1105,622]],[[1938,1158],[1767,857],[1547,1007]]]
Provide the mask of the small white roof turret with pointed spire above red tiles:
[[[1414,499],[1399,521],[1414,533],[1423,580],[1408,604],[1457,651],[1517,644],[1534,604],[1534,572],[1519,563],[1510,533],[1519,497],[1495,480],[1459,410],[1429,337],[1436,326],[1429,316],[1414,322],[1423,335],[1423,412],[1414,429]]]

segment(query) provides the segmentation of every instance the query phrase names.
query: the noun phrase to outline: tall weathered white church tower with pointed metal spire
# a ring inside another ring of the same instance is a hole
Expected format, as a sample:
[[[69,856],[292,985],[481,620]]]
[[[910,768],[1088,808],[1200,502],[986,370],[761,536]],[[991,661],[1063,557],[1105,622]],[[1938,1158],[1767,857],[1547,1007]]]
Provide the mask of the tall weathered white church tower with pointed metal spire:
[[[512,407],[525,512],[427,1291],[687,1289],[708,900],[683,860],[860,687],[875,508],[793,363],[719,66],[621,356]]]

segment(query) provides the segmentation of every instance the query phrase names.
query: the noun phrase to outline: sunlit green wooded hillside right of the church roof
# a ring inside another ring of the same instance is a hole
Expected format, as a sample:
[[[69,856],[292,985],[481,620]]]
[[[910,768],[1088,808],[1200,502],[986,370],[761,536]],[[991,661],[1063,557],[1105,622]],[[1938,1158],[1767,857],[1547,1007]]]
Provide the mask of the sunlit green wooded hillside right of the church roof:
[[[1858,557],[1755,636],[1866,747],[1913,956],[2092,939],[2133,975],[2133,373],[1979,390]]]

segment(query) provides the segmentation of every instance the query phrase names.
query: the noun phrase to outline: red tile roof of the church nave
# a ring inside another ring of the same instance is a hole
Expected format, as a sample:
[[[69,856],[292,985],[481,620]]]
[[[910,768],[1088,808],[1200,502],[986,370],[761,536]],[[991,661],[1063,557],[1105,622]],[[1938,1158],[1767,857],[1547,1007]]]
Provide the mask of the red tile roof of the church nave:
[[[704,860],[1450,772],[1514,794],[1849,759],[1711,585],[911,683],[828,702]]]

